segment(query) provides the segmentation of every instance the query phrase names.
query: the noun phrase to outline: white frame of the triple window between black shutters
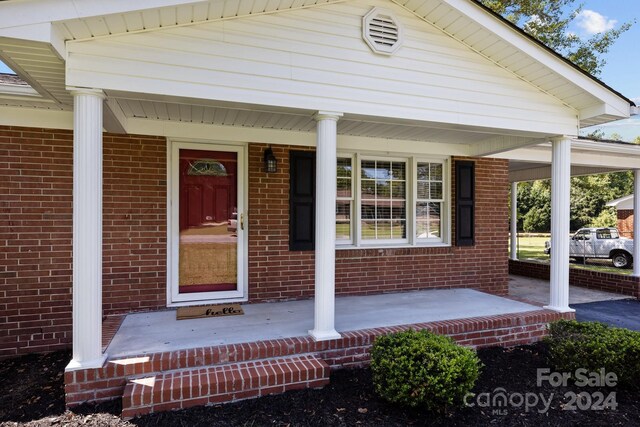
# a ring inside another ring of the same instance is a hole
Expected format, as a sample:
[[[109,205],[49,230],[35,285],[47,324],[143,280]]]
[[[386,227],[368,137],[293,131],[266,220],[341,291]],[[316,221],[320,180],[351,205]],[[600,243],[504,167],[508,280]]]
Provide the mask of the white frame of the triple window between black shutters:
[[[451,158],[449,156],[411,156],[402,153],[379,152],[338,152],[338,158],[351,159],[351,240],[336,240],[336,248],[390,248],[390,247],[438,247],[451,246]],[[361,219],[361,168],[363,160],[380,160],[406,162],[406,239],[362,239]],[[337,161],[337,159],[336,159]],[[440,213],[441,238],[418,238],[416,236],[416,207],[418,198],[418,162],[442,164],[442,192],[443,202]]]

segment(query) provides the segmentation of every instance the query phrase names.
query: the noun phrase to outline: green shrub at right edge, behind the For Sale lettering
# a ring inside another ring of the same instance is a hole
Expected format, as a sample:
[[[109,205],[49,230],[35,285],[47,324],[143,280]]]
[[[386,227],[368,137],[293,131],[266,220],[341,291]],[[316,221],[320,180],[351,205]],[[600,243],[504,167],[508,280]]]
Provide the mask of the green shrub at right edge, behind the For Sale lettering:
[[[640,332],[614,328],[599,322],[559,320],[549,326],[545,338],[551,365],[558,371],[574,373],[613,372],[618,383],[637,386],[640,381]]]

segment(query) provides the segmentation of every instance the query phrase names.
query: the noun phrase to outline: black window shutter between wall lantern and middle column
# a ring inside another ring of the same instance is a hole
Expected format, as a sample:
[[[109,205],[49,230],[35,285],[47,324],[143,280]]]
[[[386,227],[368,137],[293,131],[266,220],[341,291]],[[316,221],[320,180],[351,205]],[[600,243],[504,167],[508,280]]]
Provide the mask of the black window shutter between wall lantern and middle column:
[[[315,249],[316,153],[290,152],[289,250]]]

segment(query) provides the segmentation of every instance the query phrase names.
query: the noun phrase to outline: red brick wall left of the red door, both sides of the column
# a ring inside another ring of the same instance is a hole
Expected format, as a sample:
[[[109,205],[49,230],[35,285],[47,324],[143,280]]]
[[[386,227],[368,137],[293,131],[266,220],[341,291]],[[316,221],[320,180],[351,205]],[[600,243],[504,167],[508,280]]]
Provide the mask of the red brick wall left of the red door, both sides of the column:
[[[70,131],[0,127],[0,357],[71,342]],[[165,306],[166,143],[104,137],[104,312]]]

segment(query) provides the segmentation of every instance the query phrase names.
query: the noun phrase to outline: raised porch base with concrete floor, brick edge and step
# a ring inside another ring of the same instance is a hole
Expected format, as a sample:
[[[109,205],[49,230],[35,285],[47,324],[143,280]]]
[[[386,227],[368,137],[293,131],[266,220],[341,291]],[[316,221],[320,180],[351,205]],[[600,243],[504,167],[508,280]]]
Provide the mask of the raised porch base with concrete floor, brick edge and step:
[[[176,320],[173,310],[106,319],[109,357],[68,371],[67,404],[123,398],[122,415],[217,404],[320,387],[330,369],[369,362],[377,336],[426,329],[472,347],[540,339],[549,322],[571,319],[472,289],[438,289],[336,298],[336,330],[324,341],[306,333],[313,301],[244,305],[244,315]]]

